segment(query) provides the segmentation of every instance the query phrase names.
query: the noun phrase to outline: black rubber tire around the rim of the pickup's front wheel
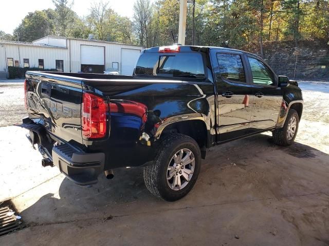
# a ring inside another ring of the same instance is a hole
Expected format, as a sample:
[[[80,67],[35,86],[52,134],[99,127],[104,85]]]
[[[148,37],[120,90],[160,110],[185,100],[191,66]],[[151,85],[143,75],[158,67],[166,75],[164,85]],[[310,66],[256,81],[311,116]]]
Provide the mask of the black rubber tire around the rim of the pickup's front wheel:
[[[296,130],[295,130],[295,134],[294,137],[291,139],[288,139],[288,134],[287,134],[287,129],[288,129],[288,124],[291,118],[295,117],[297,120],[297,125],[296,125]],[[298,125],[299,125],[299,116],[298,113],[295,109],[290,109],[286,118],[286,121],[284,122],[284,126],[283,128],[280,129],[276,129],[272,132],[273,135],[273,141],[280,146],[288,146],[293,144],[296,136],[297,136],[297,132],[298,132]]]

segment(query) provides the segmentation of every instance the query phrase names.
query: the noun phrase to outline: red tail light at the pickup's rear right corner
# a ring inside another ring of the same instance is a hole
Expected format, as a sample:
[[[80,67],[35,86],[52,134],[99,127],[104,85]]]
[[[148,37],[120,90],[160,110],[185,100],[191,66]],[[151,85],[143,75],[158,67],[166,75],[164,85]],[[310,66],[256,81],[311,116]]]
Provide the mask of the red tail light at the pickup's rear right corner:
[[[89,93],[82,94],[82,136],[101,138],[106,134],[108,105],[103,98]]]

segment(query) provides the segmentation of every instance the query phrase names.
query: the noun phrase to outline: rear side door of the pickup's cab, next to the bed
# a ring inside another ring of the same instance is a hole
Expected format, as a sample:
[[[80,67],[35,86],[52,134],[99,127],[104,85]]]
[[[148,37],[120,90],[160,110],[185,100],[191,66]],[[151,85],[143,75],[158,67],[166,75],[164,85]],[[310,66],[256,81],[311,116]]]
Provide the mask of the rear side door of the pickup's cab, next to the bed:
[[[245,136],[249,133],[252,108],[252,88],[246,76],[242,53],[216,53],[215,70],[218,92],[218,142]]]

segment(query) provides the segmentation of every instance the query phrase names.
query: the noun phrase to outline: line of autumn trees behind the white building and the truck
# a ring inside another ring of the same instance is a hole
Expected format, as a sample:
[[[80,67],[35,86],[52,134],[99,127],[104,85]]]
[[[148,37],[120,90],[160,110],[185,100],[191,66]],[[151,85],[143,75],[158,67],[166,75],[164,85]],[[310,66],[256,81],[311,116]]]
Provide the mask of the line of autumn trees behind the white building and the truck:
[[[90,6],[86,17],[71,10],[72,0],[52,0],[55,9],[29,13],[14,30],[0,38],[31,42],[46,35],[87,38],[144,47],[170,45],[178,39],[179,0],[136,0],[131,19],[107,2]],[[193,4],[188,2],[186,44],[192,44]],[[263,43],[329,39],[328,0],[195,0],[194,44],[259,47]]]

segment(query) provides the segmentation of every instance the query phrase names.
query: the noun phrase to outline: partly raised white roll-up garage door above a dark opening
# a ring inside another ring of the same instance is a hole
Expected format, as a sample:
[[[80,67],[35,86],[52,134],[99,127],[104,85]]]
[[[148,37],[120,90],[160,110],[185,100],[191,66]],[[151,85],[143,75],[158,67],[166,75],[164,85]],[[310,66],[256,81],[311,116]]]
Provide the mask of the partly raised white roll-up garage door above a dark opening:
[[[81,45],[81,64],[105,65],[104,49],[103,46]]]

